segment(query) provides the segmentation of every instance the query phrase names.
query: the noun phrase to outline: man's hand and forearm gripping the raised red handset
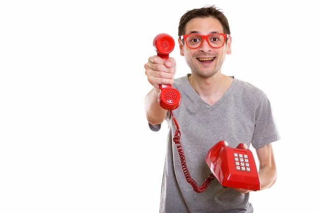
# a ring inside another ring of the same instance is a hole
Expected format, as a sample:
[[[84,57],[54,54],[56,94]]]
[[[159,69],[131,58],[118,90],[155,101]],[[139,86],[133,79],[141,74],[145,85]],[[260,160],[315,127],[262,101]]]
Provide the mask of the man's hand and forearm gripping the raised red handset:
[[[173,58],[165,61],[158,56],[153,56],[148,59],[144,68],[148,82],[154,87],[145,97],[146,119],[150,124],[160,124],[164,121],[167,111],[157,101],[159,85],[174,83],[176,62]]]

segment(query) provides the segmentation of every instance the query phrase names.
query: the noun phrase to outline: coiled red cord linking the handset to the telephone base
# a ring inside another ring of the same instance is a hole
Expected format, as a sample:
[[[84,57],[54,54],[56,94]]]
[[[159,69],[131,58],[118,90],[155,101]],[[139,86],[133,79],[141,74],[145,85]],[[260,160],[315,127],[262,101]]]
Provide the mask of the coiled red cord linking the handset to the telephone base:
[[[176,144],[176,148],[177,148],[178,155],[180,158],[180,165],[181,165],[182,171],[184,173],[185,179],[187,180],[187,182],[189,182],[192,185],[193,190],[195,192],[197,192],[197,193],[204,192],[205,189],[207,189],[209,183],[215,179],[215,176],[212,173],[210,173],[210,175],[205,179],[205,181],[201,185],[201,187],[198,187],[197,182],[191,177],[191,174],[190,174],[190,172],[187,168],[187,165],[186,165],[184,151],[183,151],[183,148],[181,147],[181,143],[179,142],[179,140],[180,140],[179,125],[176,121],[176,118],[173,115],[173,112],[172,111],[170,111],[170,112],[171,112],[171,115],[173,117],[174,123],[176,125],[176,131],[175,131],[175,136],[173,138],[173,141]]]

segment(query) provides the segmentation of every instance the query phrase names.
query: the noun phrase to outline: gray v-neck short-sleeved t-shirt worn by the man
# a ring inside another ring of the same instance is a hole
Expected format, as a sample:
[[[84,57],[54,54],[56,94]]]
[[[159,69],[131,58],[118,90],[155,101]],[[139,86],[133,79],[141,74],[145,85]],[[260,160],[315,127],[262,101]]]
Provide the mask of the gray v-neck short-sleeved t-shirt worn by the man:
[[[172,113],[179,124],[190,175],[200,187],[210,174],[205,156],[217,142],[227,141],[230,147],[245,143],[260,148],[280,136],[270,102],[260,89],[234,78],[223,97],[209,105],[191,87],[189,75],[175,79],[173,87],[179,90],[181,103]],[[167,121],[169,134],[159,212],[253,212],[249,193],[224,188],[216,179],[202,193],[193,190],[185,180],[172,141],[176,126],[169,111]]]

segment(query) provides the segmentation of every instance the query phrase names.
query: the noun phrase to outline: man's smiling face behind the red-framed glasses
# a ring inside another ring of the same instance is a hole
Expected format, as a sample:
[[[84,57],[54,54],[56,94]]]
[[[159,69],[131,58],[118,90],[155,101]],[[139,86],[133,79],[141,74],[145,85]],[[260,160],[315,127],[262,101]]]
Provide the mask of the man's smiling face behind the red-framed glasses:
[[[185,26],[185,34],[208,35],[213,33],[224,33],[220,21],[212,17],[194,18]],[[226,54],[231,53],[231,37],[220,48],[210,46],[205,39],[202,45],[196,49],[187,47],[185,41],[179,39],[180,55],[192,70],[192,74],[201,77],[211,77],[221,71]]]

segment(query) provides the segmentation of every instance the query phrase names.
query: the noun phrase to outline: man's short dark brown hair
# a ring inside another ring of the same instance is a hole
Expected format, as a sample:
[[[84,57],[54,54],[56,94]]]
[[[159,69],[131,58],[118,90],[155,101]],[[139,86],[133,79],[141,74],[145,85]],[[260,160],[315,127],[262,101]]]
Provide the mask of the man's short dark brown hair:
[[[212,6],[207,6],[199,9],[193,9],[189,10],[184,15],[179,19],[179,25],[178,25],[178,37],[182,36],[185,34],[185,26],[186,24],[192,20],[193,18],[198,18],[198,17],[214,17],[217,18],[222,26],[223,26],[223,33],[229,34],[230,35],[230,29],[229,29],[229,24],[226,16],[224,13],[217,8],[215,5]]]

